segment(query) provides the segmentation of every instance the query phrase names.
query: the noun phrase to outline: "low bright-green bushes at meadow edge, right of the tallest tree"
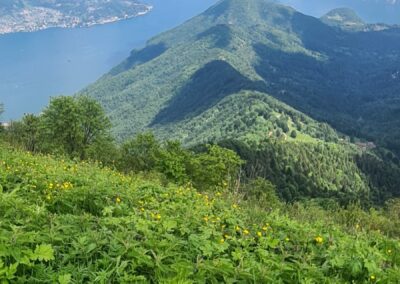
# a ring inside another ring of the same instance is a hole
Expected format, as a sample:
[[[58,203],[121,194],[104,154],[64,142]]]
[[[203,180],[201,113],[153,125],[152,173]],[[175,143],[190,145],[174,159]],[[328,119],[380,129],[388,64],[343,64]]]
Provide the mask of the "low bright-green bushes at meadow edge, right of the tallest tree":
[[[124,172],[157,171],[178,184],[192,182],[199,189],[215,189],[232,184],[241,164],[235,152],[217,145],[194,153],[179,142],[161,144],[153,134],[145,133],[124,143],[118,167]]]

